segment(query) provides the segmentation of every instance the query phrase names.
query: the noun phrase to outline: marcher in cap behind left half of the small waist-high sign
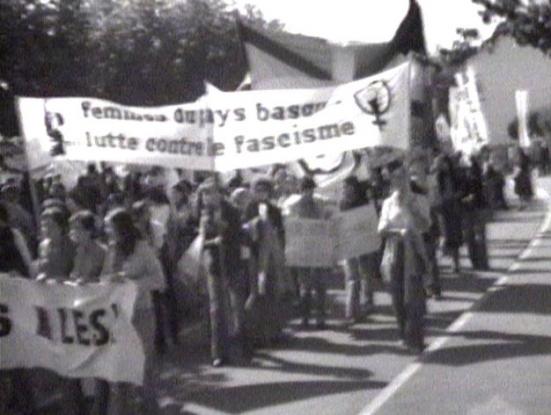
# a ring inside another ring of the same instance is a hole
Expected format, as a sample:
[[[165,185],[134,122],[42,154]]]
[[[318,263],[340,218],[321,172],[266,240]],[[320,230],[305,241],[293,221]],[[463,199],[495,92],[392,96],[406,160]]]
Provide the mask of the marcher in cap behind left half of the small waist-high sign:
[[[299,184],[300,197],[291,206],[289,206],[289,216],[305,219],[327,219],[329,214],[323,205],[321,199],[314,196],[316,182],[313,178],[305,176]],[[311,249],[316,249],[311,247]],[[301,324],[307,328],[310,324],[312,308],[312,291],[316,295],[316,326],[318,329],[325,329],[325,278],[323,268],[296,267],[296,275],[299,281],[300,294],[300,314]]]

